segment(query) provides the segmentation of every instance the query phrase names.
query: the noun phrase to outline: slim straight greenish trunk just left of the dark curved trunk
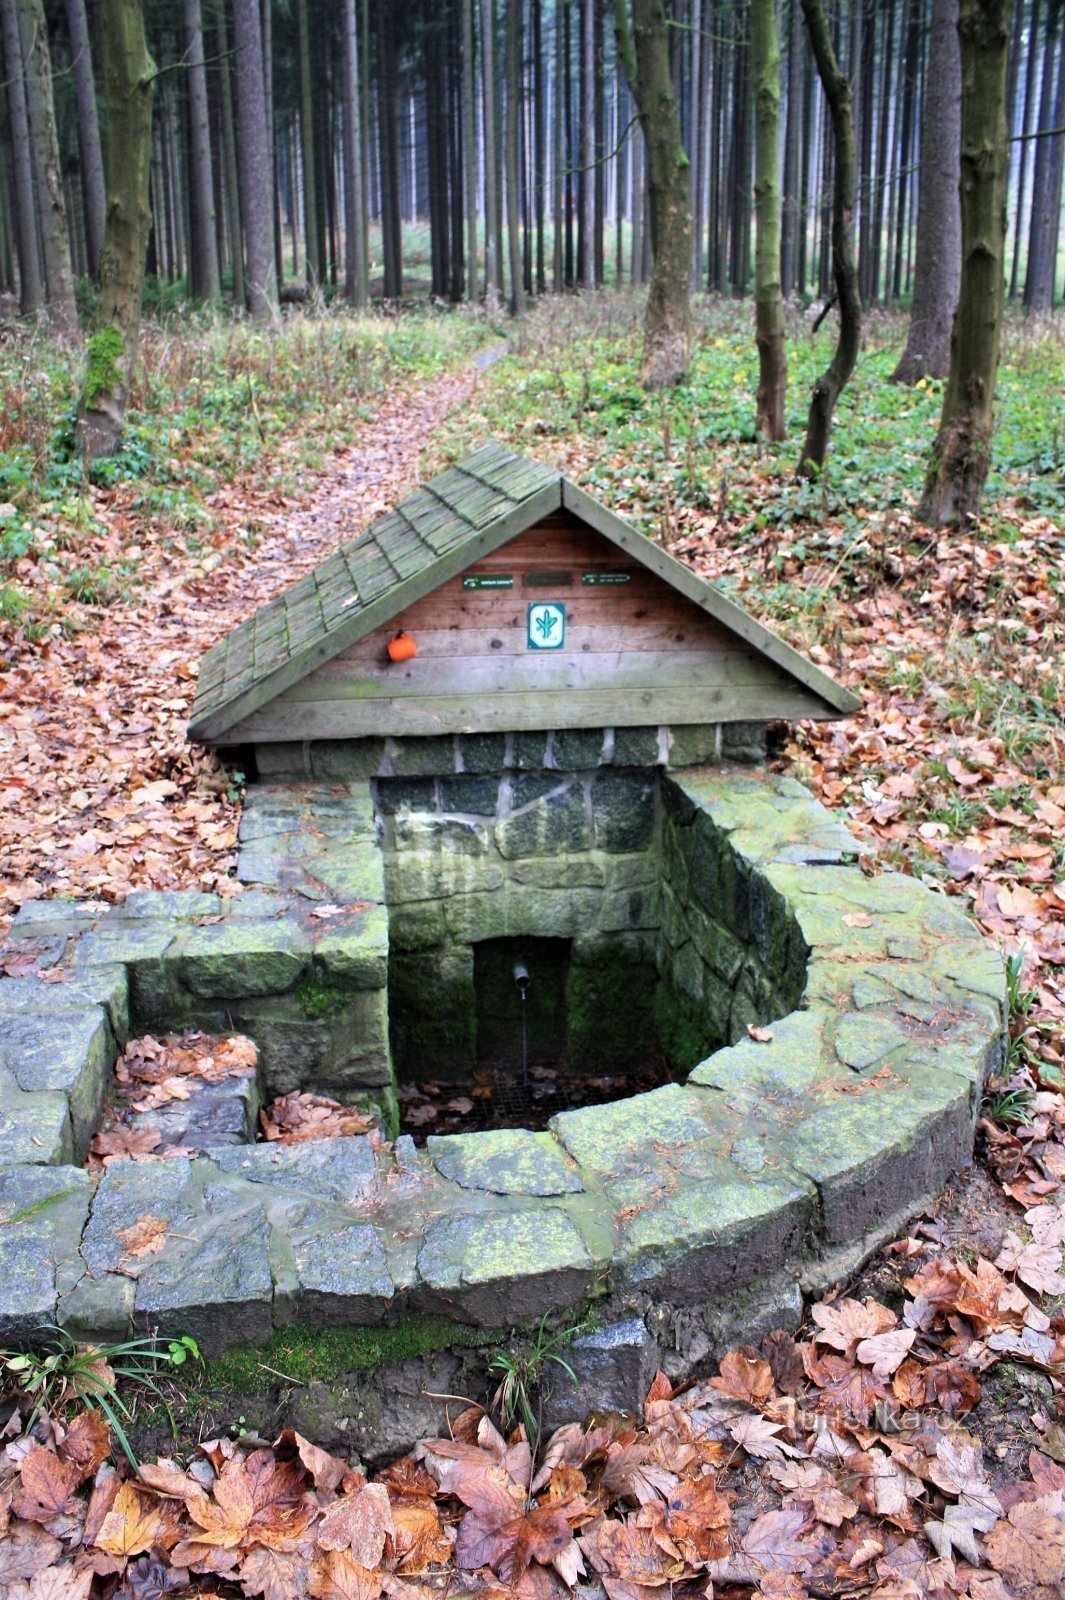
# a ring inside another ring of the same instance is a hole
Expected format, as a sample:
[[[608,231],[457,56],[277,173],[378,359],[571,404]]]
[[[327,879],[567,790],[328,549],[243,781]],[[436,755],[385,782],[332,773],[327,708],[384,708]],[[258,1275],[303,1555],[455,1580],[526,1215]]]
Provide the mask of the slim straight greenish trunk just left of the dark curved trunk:
[[[784,438],[784,398],[788,358],[784,347],[780,288],[780,45],[777,0],[752,0],[752,75],[755,80],[755,330],[758,342],[758,405],[755,427],[766,438]]]

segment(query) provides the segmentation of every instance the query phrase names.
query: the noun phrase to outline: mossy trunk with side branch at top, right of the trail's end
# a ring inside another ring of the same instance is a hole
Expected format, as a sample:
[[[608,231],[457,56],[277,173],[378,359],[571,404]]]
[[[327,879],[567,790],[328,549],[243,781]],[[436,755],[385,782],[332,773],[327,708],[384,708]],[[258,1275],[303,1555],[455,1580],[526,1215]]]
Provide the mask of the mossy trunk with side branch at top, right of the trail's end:
[[[662,0],[614,0],[617,45],[648,146],[654,266],[643,323],[644,389],[680,382],[691,357],[691,186]]]

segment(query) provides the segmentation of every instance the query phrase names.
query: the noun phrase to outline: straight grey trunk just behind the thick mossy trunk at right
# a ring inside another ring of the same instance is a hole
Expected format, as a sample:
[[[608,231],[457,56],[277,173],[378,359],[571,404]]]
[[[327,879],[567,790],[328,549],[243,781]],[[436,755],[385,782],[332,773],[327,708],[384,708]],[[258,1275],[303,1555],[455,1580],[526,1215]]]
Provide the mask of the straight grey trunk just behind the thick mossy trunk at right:
[[[932,0],[927,85],[921,118],[916,261],[910,331],[894,382],[945,378],[961,278],[961,46],[958,0]]]

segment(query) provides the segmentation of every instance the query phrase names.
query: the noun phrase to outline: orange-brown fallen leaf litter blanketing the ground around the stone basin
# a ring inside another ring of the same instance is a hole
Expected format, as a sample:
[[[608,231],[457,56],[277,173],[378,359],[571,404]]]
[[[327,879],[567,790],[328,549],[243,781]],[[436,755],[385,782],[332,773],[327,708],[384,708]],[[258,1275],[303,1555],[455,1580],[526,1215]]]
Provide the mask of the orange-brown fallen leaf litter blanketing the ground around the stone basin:
[[[606,376],[580,349],[587,326],[547,355],[532,328],[521,381],[504,363],[445,448],[489,429],[558,459],[862,693],[862,715],[796,730],[782,760],[881,861],[966,899],[1006,949],[1025,947],[980,1162],[856,1283],[812,1307],[798,1339],[768,1334],[676,1394],[659,1376],[633,1414],[574,1421],[536,1451],[521,1429],[504,1437],[467,1410],[448,1438],[374,1482],[293,1434],[192,1454],[185,1443],[181,1462],[136,1478],[109,1464],[98,1413],[40,1418],[30,1437],[16,1406],[0,1467],[0,1586],[14,1600],[561,1600],[574,1587],[608,1600],[1051,1600],[1065,1586],[1060,526],[1017,493],[999,498],[987,536],[939,539],[899,510],[895,491],[891,510],[849,514],[825,494],[804,525],[772,458],[742,442],[716,453],[716,480],[700,478],[668,410],[648,426],[617,413],[596,422],[596,386],[622,411],[643,405],[630,392],[632,314],[596,306],[616,346]],[[728,344],[713,333],[704,352]],[[737,366],[744,349],[734,341],[721,360]],[[536,392],[537,360],[558,379],[558,416]],[[465,374],[437,384],[414,400],[421,426],[470,395]],[[138,605],[101,613],[91,640],[13,638],[14,781],[0,795],[16,829],[13,907],[35,893],[227,885],[229,778],[182,742],[195,661],[409,482],[429,442],[411,437],[409,406],[390,397],[347,458],[366,472],[342,490],[342,528],[315,522],[315,506],[337,501],[331,478],[302,509],[238,486],[208,570],[185,581],[149,550]],[[624,448],[611,450],[619,434]],[[841,429],[841,459],[844,448]],[[761,522],[750,515],[760,499]],[[249,506],[267,530],[257,552],[235,534]],[[101,515],[120,520],[122,496]],[[24,802],[37,792],[48,800],[34,818]],[[141,1061],[163,1070],[150,1051]],[[301,1136],[337,1112],[267,1115]],[[125,1242],[130,1270],[154,1248],[141,1221]]]

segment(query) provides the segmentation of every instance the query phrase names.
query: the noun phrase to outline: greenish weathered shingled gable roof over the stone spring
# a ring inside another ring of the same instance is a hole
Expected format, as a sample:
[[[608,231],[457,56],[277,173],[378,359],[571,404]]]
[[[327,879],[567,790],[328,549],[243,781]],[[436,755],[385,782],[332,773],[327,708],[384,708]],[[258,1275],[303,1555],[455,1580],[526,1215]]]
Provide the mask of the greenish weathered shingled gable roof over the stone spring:
[[[556,469],[488,443],[339,546],[240,622],[200,666],[189,738],[230,730],[416,600],[564,509],[694,602],[840,717],[859,701],[742,606],[638,533]]]

